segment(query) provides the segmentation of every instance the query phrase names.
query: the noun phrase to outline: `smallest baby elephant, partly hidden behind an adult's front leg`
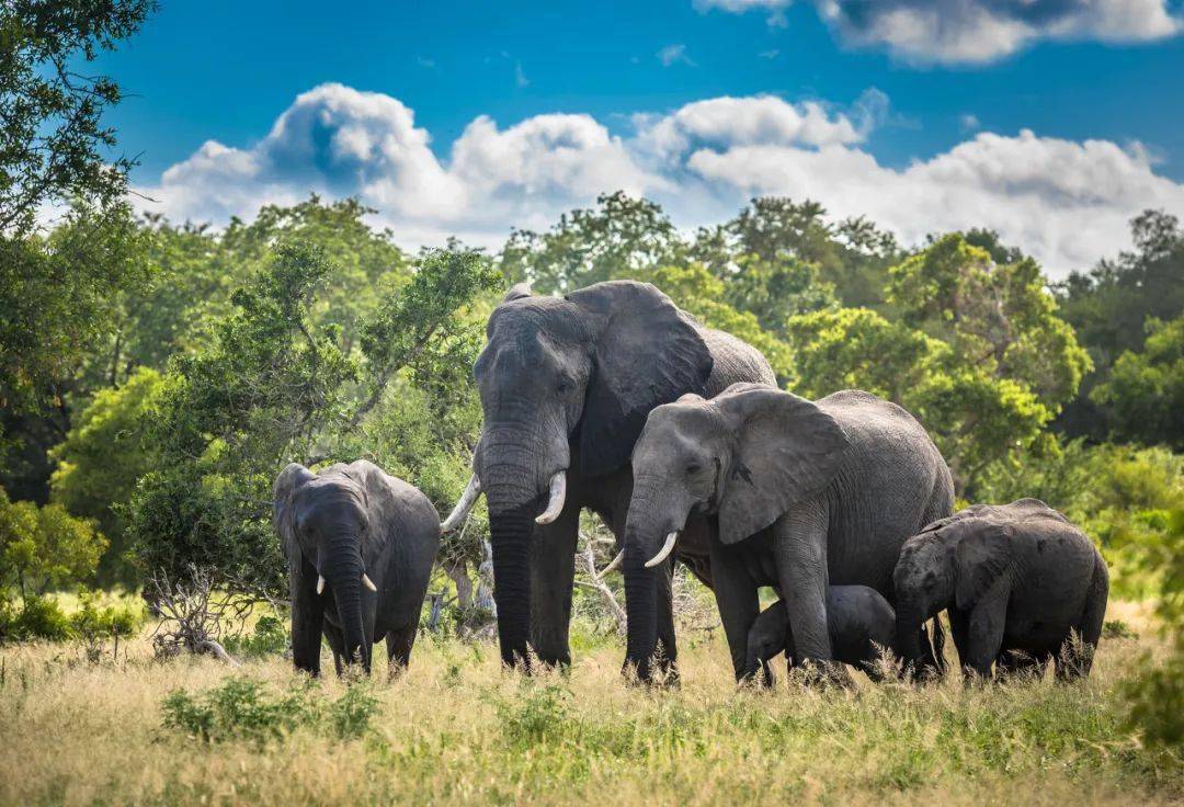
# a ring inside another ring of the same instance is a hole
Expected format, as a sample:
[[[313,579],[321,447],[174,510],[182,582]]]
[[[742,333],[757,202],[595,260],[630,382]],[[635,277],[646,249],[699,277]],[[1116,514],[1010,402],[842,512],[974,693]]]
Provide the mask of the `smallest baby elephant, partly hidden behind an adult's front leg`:
[[[826,633],[835,661],[849,664],[879,681],[881,648],[890,651],[896,636],[896,613],[888,601],[867,585],[831,585],[826,590]],[[790,666],[797,664],[797,648],[790,633],[785,601],[766,608],[748,630],[749,670],[764,670],[773,679],[768,661],[785,651]]]

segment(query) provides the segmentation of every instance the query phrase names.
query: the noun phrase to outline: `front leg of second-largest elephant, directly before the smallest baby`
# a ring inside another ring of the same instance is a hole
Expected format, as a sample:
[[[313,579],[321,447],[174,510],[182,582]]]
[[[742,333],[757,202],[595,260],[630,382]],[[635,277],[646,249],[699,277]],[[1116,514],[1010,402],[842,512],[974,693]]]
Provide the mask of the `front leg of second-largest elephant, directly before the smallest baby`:
[[[809,660],[836,681],[849,683],[847,668],[832,661],[826,627],[829,523],[830,513],[821,502],[790,510],[773,524],[773,553],[796,660]]]

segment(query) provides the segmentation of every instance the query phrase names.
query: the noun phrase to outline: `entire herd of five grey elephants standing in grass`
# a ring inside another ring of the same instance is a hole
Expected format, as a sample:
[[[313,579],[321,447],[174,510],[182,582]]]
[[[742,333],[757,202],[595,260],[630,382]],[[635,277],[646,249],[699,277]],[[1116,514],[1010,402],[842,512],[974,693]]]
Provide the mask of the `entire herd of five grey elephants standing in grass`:
[[[562,297],[510,289],[474,365],[483,425],[472,478],[443,524],[414,487],[366,461],[288,466],[275,520],[289,563],[292,657],[369,670],[375,640],[405,666],[442,532],[489,507],[503,664],[571,662],[579,517],[616,537],[625,668],[677,677],[682,562],[715,594],[738,680],[784,652],[829,679],[944,668],[1087,674],[1109,584],[1092,542],[1035,499],[953,513],[950,469],[900,406],[856,390],[777,389],[752,346],[703,327],[648,283]],[[607,571],[607,570],[606,570]],[[777,603],[760,610],[759,589]],[[932,620],[932,623],[929,621]],[[927,629],[927,625],[929,625]],[[1074,640],[1076,638],[1076,640]]]

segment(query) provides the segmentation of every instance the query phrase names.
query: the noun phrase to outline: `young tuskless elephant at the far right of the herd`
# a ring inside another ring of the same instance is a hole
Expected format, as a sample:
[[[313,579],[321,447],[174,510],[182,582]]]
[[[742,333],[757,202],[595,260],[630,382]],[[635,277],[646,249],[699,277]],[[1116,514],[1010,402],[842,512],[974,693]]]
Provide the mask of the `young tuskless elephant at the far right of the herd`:
[[[905,660],[919,666],[908,640],[915,626],[948,609],[963,670],[982,678],[1040,673],[1089,674],[1101,636],[1109,575],[1080,530],[1037,499],[976,505],[909,538],[895,570],[896,635]],[[1066,647],[1076,632],[1089,649]],[[1062,651],[1064,652],[1062,654]]]

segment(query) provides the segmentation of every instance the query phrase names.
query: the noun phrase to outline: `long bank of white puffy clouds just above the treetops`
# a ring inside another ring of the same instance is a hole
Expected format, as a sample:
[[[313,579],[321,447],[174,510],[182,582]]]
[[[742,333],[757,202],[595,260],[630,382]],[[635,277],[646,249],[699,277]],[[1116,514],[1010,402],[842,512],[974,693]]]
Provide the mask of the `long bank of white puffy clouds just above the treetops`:
[[[989,226],[1054,275],[1127,246],[1145,207],[1184,213],[1184,185],[1157,175],[1139,146],[980,132],[903,168],[866,146],[887,114],[869,90],[847,108],[777,96],[720,97],[638,115],[617,135],[590,115],[508,127],[481,116],[438,158],[398,100],[326,84],[300,95],[250,148],[208,141],[142,186],[144,207],[224,224],[310,192],[356,196],[408,246],[456,235],[496,248],[510,228],[542,229],[597,194],[662,203],[680,226],[722,220],[759,194],[815,199],[868,216],[905,243]]]

